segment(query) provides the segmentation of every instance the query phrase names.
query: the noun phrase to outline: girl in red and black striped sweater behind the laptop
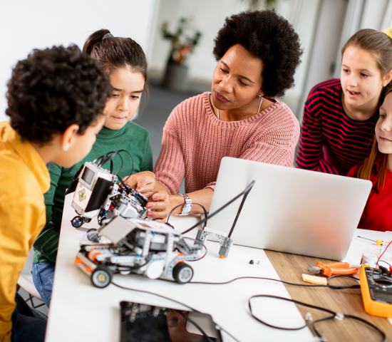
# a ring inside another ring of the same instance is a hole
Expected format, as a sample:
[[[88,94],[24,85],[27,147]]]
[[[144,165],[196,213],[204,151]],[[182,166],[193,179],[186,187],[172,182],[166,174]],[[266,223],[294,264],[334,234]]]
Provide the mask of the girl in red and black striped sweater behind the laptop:
[[[363,29],[341,49],[341,78],[315,86],[304,108],[296,166],[347,175],[368,157],[378,107],[391,87],[392,33]]]

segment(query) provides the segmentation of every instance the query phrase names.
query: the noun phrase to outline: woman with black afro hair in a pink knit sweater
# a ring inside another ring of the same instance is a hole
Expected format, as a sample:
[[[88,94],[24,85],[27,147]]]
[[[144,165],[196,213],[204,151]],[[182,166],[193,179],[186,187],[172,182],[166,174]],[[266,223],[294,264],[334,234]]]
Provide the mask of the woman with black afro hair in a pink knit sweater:
[[[212,92],[177,105],[163,128],[155,177],[130,177],[138,191],[165,190],[177,213],[210,209],[222,157],[290,166],[299,138],[292,110],[275,96],[294,85],[301,56],[292,25],[274,11],[247,11],[226,19],[215,38]],[[175,195],[185,177],[187,195]],[[233,180],[234,181],[234,180]]]

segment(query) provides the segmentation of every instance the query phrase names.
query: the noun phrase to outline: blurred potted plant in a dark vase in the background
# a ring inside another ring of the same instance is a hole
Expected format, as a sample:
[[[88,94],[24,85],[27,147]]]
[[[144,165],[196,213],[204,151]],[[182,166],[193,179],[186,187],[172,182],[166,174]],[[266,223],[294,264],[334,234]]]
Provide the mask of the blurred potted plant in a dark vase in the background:
[[[170,41],[171,51],[167,60],[163,86],[174,90],[186,90],[188,67],[186,57],[199,43],[202,33],[192,28],[190,18],[180,18],[177,30],[169,31],[169,23],[160,26],[163,39]]]

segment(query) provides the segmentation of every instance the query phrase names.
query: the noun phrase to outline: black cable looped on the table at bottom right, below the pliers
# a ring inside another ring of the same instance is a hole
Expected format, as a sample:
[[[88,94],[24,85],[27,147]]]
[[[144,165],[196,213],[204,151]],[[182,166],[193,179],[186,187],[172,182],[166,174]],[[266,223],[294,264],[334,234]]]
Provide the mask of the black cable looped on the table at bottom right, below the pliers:
[[[257,321],[259,321],[260,323],[262,323],[262,324],[264,324],[264,325],[266,325],[266,326],[270,326],[270,327],[272,327],[272,328],[281,329],[281,330],[293,331],[293,330],[300,330],[300,329],[302,329],[302,328],[305,328],[305,327],[308,326],[309,324],[306,322],[306,323],[304,324],[304,326],[301,326],[301,327],[298,327],[298,328],[285,328],[285,327],[282,327],[282,326],[273,326],[273,325],[271,325],[271,324],[269,324],[269,323],[266,323],[266,322],[262,321],[262,320],[261,320],[260,318],[258,318],[257,316],[254,316],[253,311],[252,311],[252,304],[251,304],[252,299],[254,299],[254,298],[260,298],[260,297],[264,297],[264,298],[273,298],[273,299],[280,299],[280,300],[282,300],[282,301],[290,301],[290,302],[292,302],[292,303],[294,303],[294,304],[297,304],[297,305],[299,304],[299,305],[306,306],[306,307],[311,308],[311,309],[316,309],[316,310],[324,311],[324,312],[327,312],[327,313],[331,314],[331,316],[326,316],[326,317],[324,317],[324,318],[316,319],[316,320],[314,320],[313,323],[311,324],[311,325],[312,325],[312,328],[313,328],[313,330],[314,330],[314,332],[316,333],[316,336],[319,337],[319,338],[322,338],[322,336],[321,336],[321,334],[319,333],[319,331],[318,331],[317,328],[316,328],[316,324],[317,324],[317,323],[320,323],[320,322],[322,322],[322,321],[328,321],[328,320],[333,319],[333,318],[336,318],[336,319],[350,318],[350,319],[354,319],[354,320],[356,320],[356,321],[360,321],[360,322],[366,324],[367,326],[370,326],[371,328],[373,328],[374,330],[376,330],[378,333],[381,334],[381,336],[382,336],[382,338],[383,338],[382,342],[385,342],[385,341],[386,341],[386,334],[385,334],[380,328],[378,328],[377,326],[373,325],[372,323],[370,323],[370,322],[368,322],[368,321],[365,321],[363,318],[356,317],[356,316],[352,316],[352,315],[343,315],[343,314],[339,314],[339,313],[334,312],[334,311],[331,311],[331,310],[329,310],[329,309],[322,308],[321,306],[315,306],[315,305],[311,305],[311,304],[304,303],[304,302],[302,302],[302,301],[296,301],[295,299],[288,299],[288,298],[280,297],[280,296],[272,296],[272,295],[269,295],[269,294],[258,294],[258,295],[255,295],[255,296],[251,296],[251,297],[248,299],[248,306],[249,306],[250,314],[252,315],[252,317],[253,317],[254,319],[256,319]]]

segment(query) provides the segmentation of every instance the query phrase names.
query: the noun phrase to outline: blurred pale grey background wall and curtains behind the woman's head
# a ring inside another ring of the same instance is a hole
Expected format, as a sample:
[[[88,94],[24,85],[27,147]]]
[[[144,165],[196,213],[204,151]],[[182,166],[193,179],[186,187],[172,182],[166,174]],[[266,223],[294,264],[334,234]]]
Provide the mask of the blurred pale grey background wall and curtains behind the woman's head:
[[[189,56],[189,87],[208,90],[216,61],[212,56],[213,39],[231,14],[252,8],[274,6],[295,28],[301,39],[304,54],[296,71],[295,86],[282,100],[301,120],[302,108],[309,90],[317,83],[340,76],[341,46],[361,28],[382,30],[392,25],[391,0],[161,0],[157,29],[150,56],[150,75],[163,78],[170,44],[163,41],[159,26],[168,21],[175,28],[180,17],[190,17],[202,31],[200,44]]]

